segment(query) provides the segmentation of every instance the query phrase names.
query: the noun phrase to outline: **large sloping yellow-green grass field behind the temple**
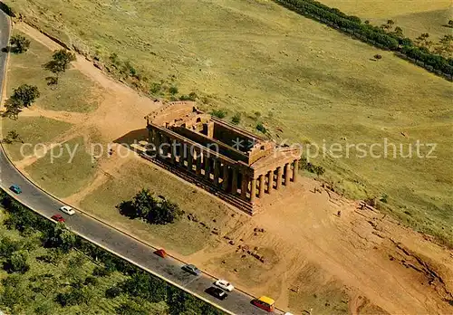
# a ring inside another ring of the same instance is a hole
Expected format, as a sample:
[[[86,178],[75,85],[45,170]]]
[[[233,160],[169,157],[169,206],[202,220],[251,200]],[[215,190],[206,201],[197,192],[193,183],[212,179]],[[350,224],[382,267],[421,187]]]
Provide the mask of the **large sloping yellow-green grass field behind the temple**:
[[[225,109],[227,119],[241,112],[246,128],[255,128],[259,112],[271,134],[283,130],[279,139],[438,143],[434,159],[326,157],[316,163],[346,195],[388,195],[389,212],[453,243],[450,82],[273,2],[5,3],[101,61],[117,53],[149,84],[174,76],[180,93],[206,96],[205,108]],[[391,12],[412,14],[398,10]],[[371,61],[376,53],[379,62]]]

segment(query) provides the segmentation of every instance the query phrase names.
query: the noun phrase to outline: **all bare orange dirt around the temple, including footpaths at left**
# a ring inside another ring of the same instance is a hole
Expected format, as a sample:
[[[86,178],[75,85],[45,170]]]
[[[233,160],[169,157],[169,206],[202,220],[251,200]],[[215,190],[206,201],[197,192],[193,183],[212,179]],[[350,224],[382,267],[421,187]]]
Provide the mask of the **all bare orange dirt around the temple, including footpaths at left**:
[[[51,49],[58,48],[24,24],[15,27]],[[71,122],[74,127],[59,138],[62,142],[81,135],[88,142],[112,142],[143,129],[143,117],[156,103],[112,81],[80,57],[74,69],[101,86],[97,110],[63,114],[32,108],[21,115]],[[93,129],[96,138],[90,138]],[[127,160],[101,160],[92,185],[67,200],[79,204],[103,185],[106,174]],[[33,162],[23,160],[18,165]],[[181,184],[175,180],[175,185]],[[217,242],[208,242],[198,253],[181,258],[240,289],[272,296],[282,309],[294,313],[310,309],[352,314],[453,312],[453,302],[448,303],[453,301],[451,251],[376,210],[359,209],[357,202],[324,189],[313,179],[301,177],[252,218],[239,213],[230,216],[226,227],[224,234],[210,236]]]

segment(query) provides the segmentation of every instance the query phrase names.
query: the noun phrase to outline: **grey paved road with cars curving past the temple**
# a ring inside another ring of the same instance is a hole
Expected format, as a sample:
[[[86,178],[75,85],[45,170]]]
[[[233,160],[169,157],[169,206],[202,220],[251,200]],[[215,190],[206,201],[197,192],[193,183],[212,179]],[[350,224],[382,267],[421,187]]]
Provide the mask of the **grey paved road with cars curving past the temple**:
[[[8,20],[0,13],[0,47],[5,47],[8,39],[9,26]],[[3,81],[5,67],[5,53],[0,56],[0,83]],[[0,84],[0,96],[1,94]],[[117,253],[122,257],[127,258],[130,262],[154,272],[167,281],[175,282],[181,287],[184,287],[191,293],[205,298],[207,301],[220,306],[224,310],[228,310],[234,314],[268,314],[264,310],[257,309],[250,301],[251,297],[240,292],[233,291],[228,293],[225,301],[207,295],[205,289],[215,282],[215,279],[207,274],[201,276],[193,276],[181,270],[182,262],[178,262],[172,258],[162,259],[153,254],[155,249],[140,243],[126,234],[102,224],[100,221],[92,219],[90,216],[83,215],[78,212],[76,215],[65,215],[58,211],[63,204],[52,196],[45,194],[41,189],[34,186],[28,179],[23,177],[15,167],[9,162],[5,156],[3,148],[0,148],[0,186],[7,189],[12,184],[17,184],[22,188],[23,193],[16,196],[16,199],[34,209],[41,215],[50,217],[59,213],[66,219],[66,225],[77,234],[81,234],[93,243],[100,244],[104,248],[109,249],[113,253]]]

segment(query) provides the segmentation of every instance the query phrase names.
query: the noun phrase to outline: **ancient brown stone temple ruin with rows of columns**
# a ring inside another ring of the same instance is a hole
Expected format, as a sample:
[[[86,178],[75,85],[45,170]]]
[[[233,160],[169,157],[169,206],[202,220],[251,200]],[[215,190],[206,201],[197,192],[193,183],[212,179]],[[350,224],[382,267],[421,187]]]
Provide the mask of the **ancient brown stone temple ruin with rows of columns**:
[[[195,102],[166,103],[145,119],[153,161],[250,215],[262,198],[297,179],[300,148],[239,129]]]

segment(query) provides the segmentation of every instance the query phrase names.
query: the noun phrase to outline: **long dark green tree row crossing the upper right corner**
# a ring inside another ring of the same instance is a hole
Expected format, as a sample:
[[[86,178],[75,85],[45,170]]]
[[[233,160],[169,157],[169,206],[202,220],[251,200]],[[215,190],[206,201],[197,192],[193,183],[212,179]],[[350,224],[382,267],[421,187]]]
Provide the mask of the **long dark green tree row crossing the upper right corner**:
[[[453,76],[453,59],[429,52],[426,47],[419,47],[402,32],[387,32],[385,27],[362,23],[357,16],[346,15],[338,9],[327,7],[313,0],[275,0],[299,14],[314,18],[334,28],[352,33],[366,43],[373,43],[380,48],[400,52],[410,59],[423,62],[422,65],[432,67],[451,78]]]

